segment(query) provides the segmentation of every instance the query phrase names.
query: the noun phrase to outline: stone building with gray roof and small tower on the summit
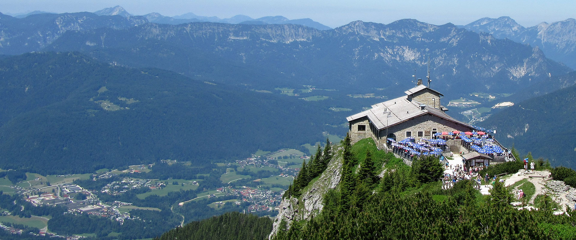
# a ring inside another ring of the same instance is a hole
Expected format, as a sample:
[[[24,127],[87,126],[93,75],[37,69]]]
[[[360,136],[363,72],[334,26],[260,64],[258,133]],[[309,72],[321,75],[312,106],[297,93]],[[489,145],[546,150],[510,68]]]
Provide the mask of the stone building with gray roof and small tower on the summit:
[[[378,149],[387,150],[386,139],[432,138],[442,131],[472,131],[473,127],[448,114],[442,106],[444,96],[418,82],[400,98],[372,105],[372,109],[347,117],[353,143],[372,137]]]

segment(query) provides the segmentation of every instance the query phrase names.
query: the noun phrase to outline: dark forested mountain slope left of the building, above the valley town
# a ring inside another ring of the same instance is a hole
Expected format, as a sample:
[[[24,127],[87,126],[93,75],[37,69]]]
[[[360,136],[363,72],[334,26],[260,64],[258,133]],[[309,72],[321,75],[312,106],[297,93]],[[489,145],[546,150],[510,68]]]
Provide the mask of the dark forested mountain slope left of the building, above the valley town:
[[[63,174],[167,158],[195,164],[244,158],[322,141],[323,131],[338,131],[329,125],[346,115],[79,53],[7,57],[0,71],[3,169]]]

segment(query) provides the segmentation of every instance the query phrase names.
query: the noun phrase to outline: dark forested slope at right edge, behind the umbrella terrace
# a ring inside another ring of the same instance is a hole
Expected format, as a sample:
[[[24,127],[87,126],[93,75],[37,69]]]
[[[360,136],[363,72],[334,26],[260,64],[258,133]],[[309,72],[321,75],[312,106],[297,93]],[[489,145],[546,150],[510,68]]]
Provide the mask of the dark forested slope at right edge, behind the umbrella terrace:
[[[571,73],[576,78],[576,73]],[[517,103],[479,123],[497,129],[498,141],[534,157],[550,158],[553,165],[575,168],[576,86]]]

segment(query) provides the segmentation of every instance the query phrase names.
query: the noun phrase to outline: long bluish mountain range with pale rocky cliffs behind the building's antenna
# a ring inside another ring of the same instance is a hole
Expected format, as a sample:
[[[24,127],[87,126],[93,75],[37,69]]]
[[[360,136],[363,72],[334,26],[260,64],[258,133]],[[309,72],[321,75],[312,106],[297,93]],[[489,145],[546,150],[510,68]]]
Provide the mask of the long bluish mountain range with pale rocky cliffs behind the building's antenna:
[[[355,93],[372,91],[366,86],[403,92],[414,84],[414,70],[425,76],[428,57],[434,88],[457,94],[511,94],[571,71],[528,45],[416,20],[355,21],[332,30],[291,24],[165,25],[93,13],[1,15],[0,22],[1,54],[81,51],[127,67],[268,88],[304,84]]]

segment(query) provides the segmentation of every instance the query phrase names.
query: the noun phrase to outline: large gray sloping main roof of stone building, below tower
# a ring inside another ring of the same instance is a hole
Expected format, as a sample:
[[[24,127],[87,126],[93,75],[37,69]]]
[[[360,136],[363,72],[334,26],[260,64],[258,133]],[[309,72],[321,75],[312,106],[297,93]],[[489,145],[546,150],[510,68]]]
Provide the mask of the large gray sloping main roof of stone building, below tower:
[[[429,113],[436,115],[437,117],[445,118],[449,121],[472,128],[472,126],[468,125],[467,123],[457,121],[456,119],[450,117],[442,110],[434,109],[430,106],[425,106],[424,109],[422,109],[420,108],[421,104],[422,103],[416,102],[415,100],[409,101],[407,96],[401,96],[400,98],[374,104],[372,105],[372,109],[351,115],[350,117],[347,117],[346,120],[350,122],[355,119],[367,117],[378,130],[382,130],[386,127],[393,126],[400,122],[404,122],[420,115]]]

